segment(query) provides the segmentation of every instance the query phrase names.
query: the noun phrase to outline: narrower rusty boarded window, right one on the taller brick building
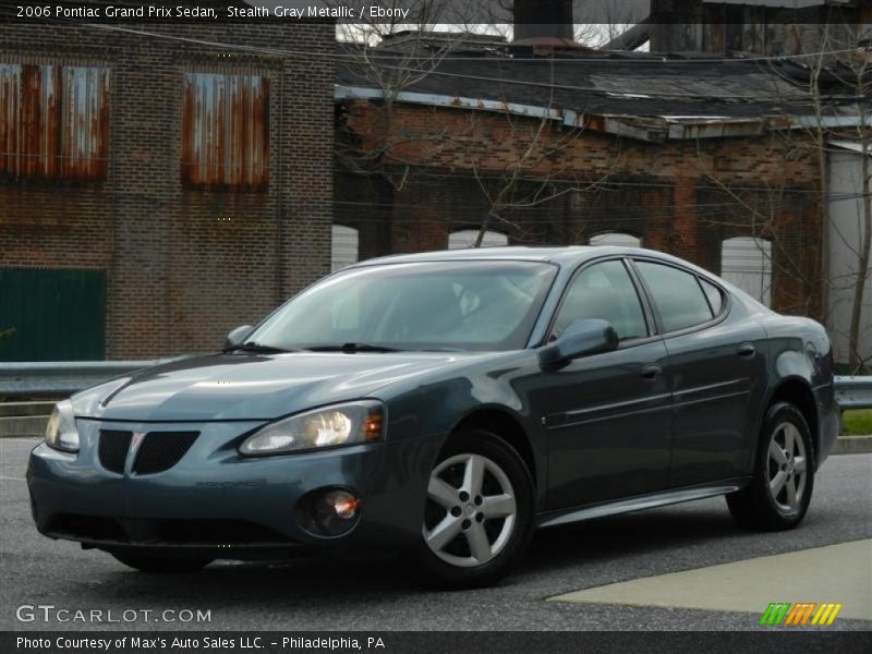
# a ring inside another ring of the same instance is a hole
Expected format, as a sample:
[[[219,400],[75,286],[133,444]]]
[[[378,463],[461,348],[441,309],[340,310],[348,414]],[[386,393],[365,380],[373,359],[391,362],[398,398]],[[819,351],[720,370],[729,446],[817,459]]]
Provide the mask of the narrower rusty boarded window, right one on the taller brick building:
[[[183,182],[266,186],[269,80],[246,74],[186,74],[182,134]]]

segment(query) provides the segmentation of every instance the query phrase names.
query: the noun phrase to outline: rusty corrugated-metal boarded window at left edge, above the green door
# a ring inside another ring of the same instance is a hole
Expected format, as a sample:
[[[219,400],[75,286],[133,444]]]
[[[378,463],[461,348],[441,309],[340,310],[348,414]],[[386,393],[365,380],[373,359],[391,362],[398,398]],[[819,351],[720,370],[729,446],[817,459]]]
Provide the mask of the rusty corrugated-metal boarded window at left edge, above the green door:
[[[0,175],[101,180],[108,152],[106,69],[0,63]]]

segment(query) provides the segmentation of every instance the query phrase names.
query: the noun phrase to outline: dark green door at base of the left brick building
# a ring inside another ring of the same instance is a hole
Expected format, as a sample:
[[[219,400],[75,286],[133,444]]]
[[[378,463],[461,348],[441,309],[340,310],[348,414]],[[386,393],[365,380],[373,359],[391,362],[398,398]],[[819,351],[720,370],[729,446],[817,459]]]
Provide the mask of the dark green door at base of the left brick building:
[[[0,268],[0,361],[100,360],[105,318],[102,270]]]

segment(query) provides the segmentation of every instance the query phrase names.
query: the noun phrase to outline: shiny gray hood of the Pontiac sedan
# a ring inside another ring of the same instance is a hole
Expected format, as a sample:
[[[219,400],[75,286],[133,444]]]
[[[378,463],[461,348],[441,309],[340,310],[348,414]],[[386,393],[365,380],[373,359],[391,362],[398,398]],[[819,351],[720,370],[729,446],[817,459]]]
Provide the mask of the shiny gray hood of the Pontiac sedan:
[[[80,417],[111,421],[272,420],[374,397],[392,383],[475,353],[214,354],[143,368],[73,396]]]

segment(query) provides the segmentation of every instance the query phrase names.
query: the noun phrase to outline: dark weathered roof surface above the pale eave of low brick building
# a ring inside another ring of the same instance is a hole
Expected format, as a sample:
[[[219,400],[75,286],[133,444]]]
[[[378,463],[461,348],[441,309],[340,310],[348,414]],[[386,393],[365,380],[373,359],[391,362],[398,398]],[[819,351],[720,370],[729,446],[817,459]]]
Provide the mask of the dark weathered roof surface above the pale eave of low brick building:
[[[376,63],[340,64],[338,84],[380,88],[376,78],[384,82],[391,80],[391,75],[400,80],[409,76],[392,66],[417,65],[421,74],[404,84],[403,92],[547,105],[588,113],[756,118],[802,113],[812,105],[807,85],[791,81],[792,76],[807,77],[808,71],[779,61],[725,58],[713,62],[711,55],[705,61],[650,55],[644,58],[649,61],[643,62],[619,57],[568,56],[555,60],[446,58],[415,64],[408,56],[395,60],[388,55],[380,52]],[[380,65],[382,70],[374,73],[373,65]]]

